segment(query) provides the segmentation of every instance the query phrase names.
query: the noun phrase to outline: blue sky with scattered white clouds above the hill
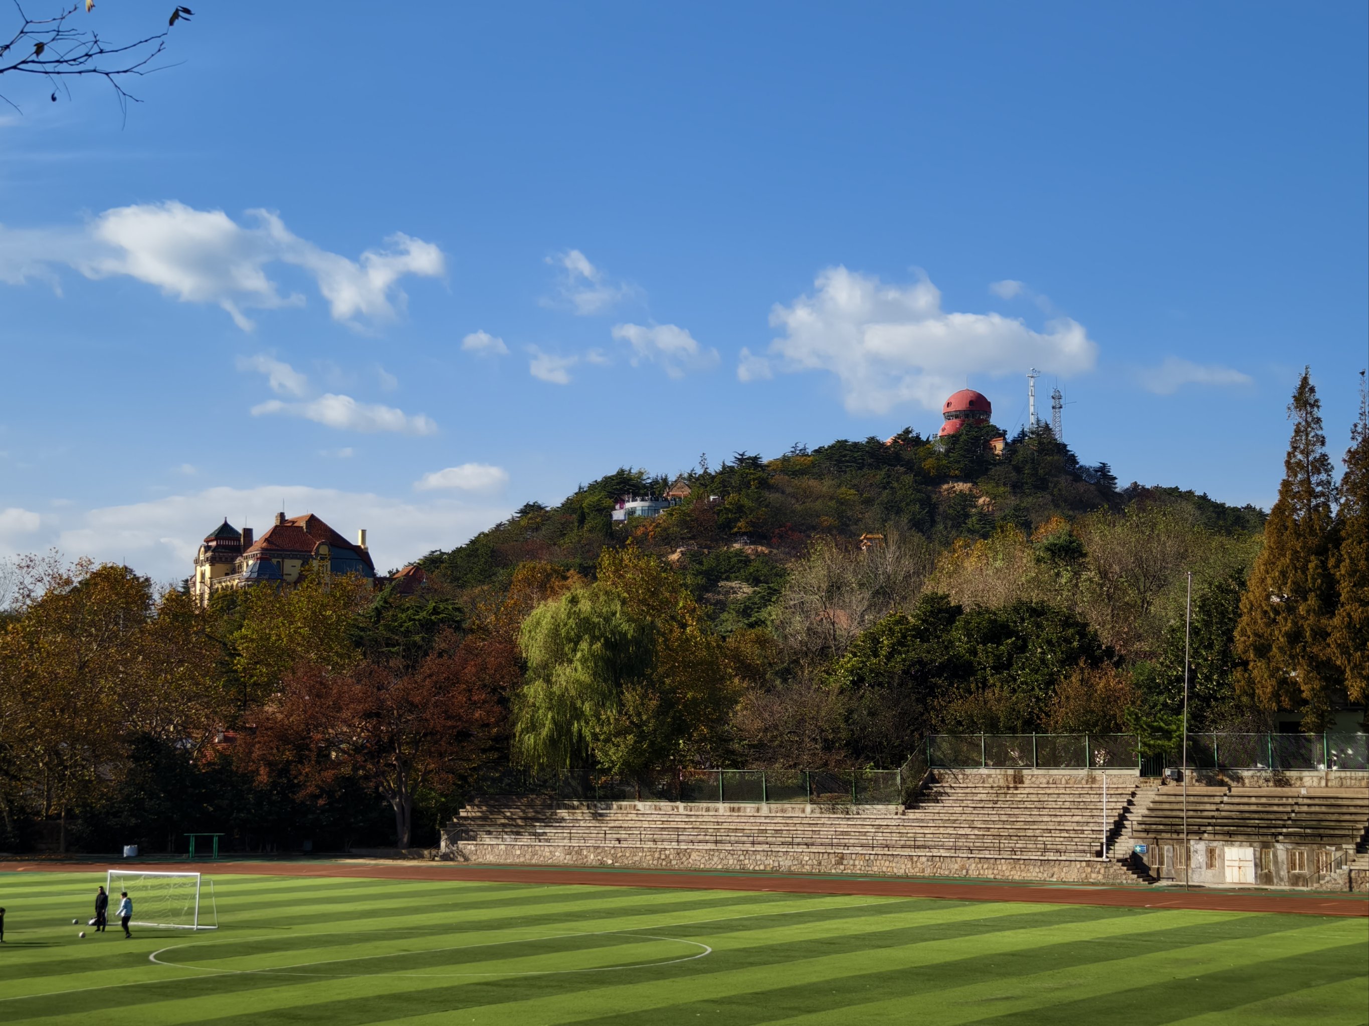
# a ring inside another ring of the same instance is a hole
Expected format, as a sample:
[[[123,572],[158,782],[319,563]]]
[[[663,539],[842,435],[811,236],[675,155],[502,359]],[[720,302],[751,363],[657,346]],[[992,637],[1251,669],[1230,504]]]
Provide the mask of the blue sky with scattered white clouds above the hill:
[[[194,7],[126,123],[0,77],[0,553],[397,566],[1032,364],[1123,482],[1268,506],[1303,363],[1344,449],[1364,4]]]

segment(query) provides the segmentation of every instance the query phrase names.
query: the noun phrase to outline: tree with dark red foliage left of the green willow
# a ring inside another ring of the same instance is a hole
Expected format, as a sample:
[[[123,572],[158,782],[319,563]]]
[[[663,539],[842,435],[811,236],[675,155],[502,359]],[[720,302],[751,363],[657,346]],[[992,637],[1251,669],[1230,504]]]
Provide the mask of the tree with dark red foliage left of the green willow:
[[[259,774],[287,773],[304,795],[326,799],[344,778],[375,791],[407,848],[415,793],[450,787],[479,762],[504,728],[502,698],[517,679],[511,644],[450,633],[416,663],[298,666],[259,710],[245,754]]]

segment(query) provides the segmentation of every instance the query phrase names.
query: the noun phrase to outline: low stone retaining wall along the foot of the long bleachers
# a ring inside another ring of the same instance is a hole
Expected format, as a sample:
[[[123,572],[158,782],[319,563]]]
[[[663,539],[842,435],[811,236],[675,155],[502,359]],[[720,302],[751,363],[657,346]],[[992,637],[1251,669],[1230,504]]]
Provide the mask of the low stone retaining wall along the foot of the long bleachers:
[[[665,848],[593,844],[508,844],[464,841],[459,828],[442,830],[439,858],[501,866],[624,866],[632,869],[739,870],[757,873],[853,873],[891,877],[977,877],[1050,880],[1062,884],[1135,884],[1136,877],[1108,859],[898,855],[873,851],[765,851],[737,845]]]

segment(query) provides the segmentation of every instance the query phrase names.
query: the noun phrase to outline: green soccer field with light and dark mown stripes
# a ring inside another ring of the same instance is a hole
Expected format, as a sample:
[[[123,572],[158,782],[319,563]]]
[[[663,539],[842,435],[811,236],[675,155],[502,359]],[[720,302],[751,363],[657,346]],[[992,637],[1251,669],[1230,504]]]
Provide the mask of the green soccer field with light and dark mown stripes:
[[[0,873],[0,1022],[1369,1021],[1354,918],[216,876],[219,930],[81,940],[100,882]]]

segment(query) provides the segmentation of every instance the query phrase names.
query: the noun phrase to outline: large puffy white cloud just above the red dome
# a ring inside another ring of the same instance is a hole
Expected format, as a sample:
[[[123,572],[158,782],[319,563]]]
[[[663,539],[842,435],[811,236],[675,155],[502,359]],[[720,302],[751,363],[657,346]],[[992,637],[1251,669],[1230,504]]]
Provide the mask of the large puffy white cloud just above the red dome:
[[[1035,365],[1071,375],[1091,369],[1098,353],[1069,317],[1050,320],[1039,332],[998,313],[949,313],[927,278],[884,285],[845,267],[820,272],[812,295],[776,304],[771,324],[784,331],[769,345],[773,368],[836,375],[852,413],[887,413],[902,402],[939,409],[969,373],[997,376]],[[743,380],[764,376],[757,364],[746,367],[738,367]]]

